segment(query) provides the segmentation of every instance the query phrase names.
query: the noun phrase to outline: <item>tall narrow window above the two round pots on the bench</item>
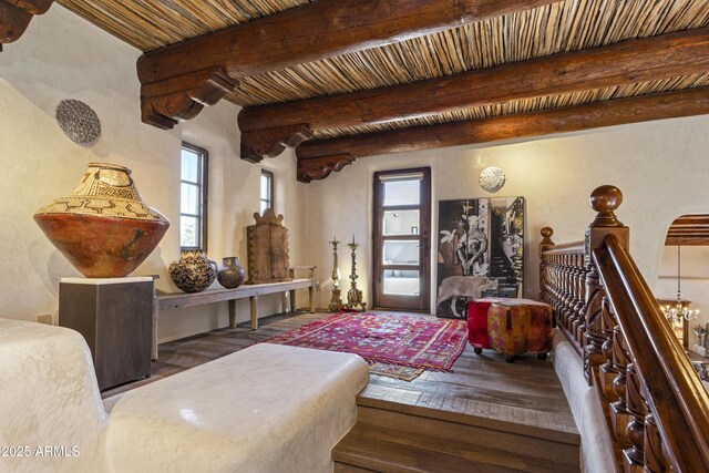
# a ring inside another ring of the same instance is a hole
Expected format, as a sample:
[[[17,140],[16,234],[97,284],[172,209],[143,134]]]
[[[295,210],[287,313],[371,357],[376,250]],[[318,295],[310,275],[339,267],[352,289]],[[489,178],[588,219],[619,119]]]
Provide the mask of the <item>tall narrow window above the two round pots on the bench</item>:
[[[182,144],[179,246],[207,250],[207,151]]]

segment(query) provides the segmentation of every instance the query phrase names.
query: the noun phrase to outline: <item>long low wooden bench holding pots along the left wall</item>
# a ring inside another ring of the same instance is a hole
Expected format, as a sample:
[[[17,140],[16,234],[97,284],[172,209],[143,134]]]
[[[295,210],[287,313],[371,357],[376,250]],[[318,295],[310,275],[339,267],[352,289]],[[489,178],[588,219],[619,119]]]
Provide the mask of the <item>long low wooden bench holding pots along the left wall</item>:
[[[258,328],[258,297],[268,294],[290,292],[290,310],[296,310],[296,290],[308,289],[309,310],[315,312],[315,278],[294,279],[285,282],[244,285],[236,289],[213,289],[204,292],[158,294],[155,300],[153,327],[153,359],[157,358],[157,319],[160,311],[178,307],[194,307],[205,304],[227,301],[229,305],[229,327],[236,327],[236,301],[248,298],[251,309],[251,330]]]

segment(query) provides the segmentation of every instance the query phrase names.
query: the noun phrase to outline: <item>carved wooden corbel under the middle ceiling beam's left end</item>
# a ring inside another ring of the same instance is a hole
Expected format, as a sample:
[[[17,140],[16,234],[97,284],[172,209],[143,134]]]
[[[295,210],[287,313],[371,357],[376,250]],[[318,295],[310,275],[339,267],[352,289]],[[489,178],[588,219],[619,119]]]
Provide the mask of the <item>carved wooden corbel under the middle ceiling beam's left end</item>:
[[[312,131],[306,123],[264,128],[242,133],[242,160],[258,163],[264,157],[276,157],[286,147],[296,147],[312,137]]]

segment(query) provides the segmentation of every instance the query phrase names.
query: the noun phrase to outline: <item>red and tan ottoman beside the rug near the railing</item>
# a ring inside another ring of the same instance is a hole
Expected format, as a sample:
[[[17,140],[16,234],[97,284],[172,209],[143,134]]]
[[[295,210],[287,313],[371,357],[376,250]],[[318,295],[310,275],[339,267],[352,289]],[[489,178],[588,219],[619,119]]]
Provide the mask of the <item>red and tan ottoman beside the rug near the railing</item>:
[[[467,339],[481,353],[492,348],[513,362],[533,352],[541,360],[552,350],[552,306],[531,299],[484,298],[467,302]]]

